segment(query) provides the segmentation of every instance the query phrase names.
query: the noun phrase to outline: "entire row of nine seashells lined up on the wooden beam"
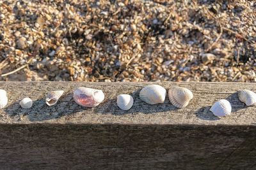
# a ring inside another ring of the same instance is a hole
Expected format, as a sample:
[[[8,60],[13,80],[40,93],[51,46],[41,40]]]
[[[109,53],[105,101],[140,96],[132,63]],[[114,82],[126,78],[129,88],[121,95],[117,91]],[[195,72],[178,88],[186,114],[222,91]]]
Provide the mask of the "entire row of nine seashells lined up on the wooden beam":
[[[45,103],[48,106],[53,106],[58,102],[58,99],[63,94],[63,90],[56,90],[49,92],[45,98]],[[4,108],[8,103],[6,91],[0,89],[0,108]],[[193,93],[184,87],[172,87],[168,91],[170,103],[177,108],[184,108],[188,106],[189,101],[193,98]],[[239,90],[239,100],[247,106],[256,105],[256,94],[250,90]],[[104,93],[102,90],[91,89],[86,87],[79,87],[74,91],[74,101],[84,107],[95,107],[104,101]],[[148,85],[140,91],[140,99],[148,104],[164,103],[166,98],[166,89],[160,85]],[[134,99],[129,94],[120,94],[117,96],[117,106],[122,110],[129,110],[132,108]],[[24,109],[31,108],[33,105],[29,97],[25,97],[20,101],[20,106]],[[226,99],[221,99],[214,103],[210,109],[215,116],[223,117],[230,115],[232,106]]]

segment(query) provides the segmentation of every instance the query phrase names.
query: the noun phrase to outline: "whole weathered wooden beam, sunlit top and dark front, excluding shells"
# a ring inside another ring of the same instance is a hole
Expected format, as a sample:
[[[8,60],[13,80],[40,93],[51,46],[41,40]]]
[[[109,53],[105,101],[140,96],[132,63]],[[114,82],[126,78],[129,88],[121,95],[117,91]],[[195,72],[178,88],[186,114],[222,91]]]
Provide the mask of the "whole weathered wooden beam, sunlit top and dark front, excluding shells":
[[[0,82],[9,103],[0,110],[1,169],[256,169],[256,106],[244,106],[237,90],[256,91],[253,83],[157,83],[181,86],[194,98],[177,109],[148,105],[138,97],[153,83]],[[74,103],[76,87],[102,89],[97,108]],[[50,90],[65,90],[50,107]],[[118,94],[131,94],[134,106],[122,111]],[[29,110],[23,97],[33,99]],[[209,108],[219,99],[232,104],[229,117]]]

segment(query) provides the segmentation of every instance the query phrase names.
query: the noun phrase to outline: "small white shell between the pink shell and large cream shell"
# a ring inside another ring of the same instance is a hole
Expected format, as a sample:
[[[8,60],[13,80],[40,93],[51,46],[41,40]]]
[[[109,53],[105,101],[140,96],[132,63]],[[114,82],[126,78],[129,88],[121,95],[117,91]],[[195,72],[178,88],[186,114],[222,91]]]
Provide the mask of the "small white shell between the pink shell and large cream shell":
[[[117,96],[117,106],[122,110],[129,110],[133,104],[133,98],[129,94],[120,94]]]

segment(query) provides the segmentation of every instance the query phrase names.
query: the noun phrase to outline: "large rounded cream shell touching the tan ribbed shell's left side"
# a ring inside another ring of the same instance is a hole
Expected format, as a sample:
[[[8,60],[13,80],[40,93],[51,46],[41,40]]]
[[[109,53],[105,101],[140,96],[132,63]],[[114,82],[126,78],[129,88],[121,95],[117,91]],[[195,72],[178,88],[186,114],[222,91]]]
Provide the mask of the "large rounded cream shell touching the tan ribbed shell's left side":
[[[140,99],[148,104],[164,103],[166,90],[161,85],[148,85],[140,90]]]

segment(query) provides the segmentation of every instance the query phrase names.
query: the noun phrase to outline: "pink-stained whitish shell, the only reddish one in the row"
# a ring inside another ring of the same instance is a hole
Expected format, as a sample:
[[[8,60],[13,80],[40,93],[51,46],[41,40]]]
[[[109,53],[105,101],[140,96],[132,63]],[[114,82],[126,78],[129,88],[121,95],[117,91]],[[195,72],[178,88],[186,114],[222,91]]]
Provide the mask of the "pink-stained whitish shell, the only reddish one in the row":
[[[74,91],[73,98],[77,104],[92,108],[102,103],[104,100],[104,93],[102,90],[78,87]]]

